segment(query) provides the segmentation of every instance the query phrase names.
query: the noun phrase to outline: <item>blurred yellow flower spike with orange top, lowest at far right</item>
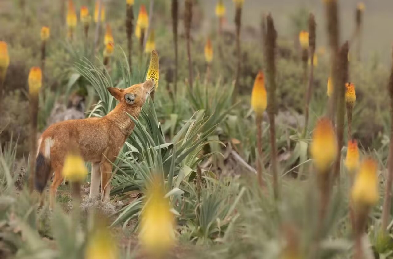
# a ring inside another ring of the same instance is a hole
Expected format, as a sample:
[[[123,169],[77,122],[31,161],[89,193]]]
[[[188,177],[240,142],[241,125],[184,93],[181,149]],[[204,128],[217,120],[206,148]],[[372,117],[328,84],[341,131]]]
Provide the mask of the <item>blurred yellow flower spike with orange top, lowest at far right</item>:
[[[365,159],[360,165],[351,190],[351,198],[355,209],[364,209],[378,202],[377,163],[371,158]]]

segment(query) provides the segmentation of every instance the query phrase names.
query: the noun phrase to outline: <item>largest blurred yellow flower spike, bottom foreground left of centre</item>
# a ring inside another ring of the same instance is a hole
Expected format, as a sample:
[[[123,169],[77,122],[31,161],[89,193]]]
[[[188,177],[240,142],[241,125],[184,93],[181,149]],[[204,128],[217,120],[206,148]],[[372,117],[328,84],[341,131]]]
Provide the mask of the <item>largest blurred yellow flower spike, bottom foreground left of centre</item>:
[[[153,258],[165,255],[174,245],[174,216],[163,183],[154,180],[146,193],[146,204],[141,211],[141,245]]]

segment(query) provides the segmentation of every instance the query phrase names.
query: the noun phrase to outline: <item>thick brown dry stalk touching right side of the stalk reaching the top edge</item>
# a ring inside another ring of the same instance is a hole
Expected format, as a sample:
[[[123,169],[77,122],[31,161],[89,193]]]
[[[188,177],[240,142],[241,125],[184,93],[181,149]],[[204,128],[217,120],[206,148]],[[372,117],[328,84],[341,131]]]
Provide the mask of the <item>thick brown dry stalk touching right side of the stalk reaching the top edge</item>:
[[[336,110],[336,134],[337,134],[337,146],[338,154],[336,162],[334,163],[334,178],[340,175],[341,165],[341,149],[343,147],[343,135],[344,135],[344,121],[345,121],[345,83],[348,79],[348,41],[343,44],[338,53],[338,66],[336,67],[335,74],[336,82],[334,85],[334,95],[337,96],[337,110]]]

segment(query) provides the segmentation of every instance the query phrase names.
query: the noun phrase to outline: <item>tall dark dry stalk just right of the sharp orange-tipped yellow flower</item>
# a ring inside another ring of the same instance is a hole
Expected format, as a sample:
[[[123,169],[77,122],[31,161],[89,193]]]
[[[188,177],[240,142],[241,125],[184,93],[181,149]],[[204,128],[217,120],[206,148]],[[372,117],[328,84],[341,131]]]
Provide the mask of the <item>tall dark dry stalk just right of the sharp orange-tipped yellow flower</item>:
[[[274,21],[272,15],[266,17],[266,37],[265,37],[265,64],[266,64],[266,79],[267,87],[267,113],[270,123],[270,147],[271,147],[271,165],[273,174],[273,189],[274,196],[278,198],[278,175],[277,175],[277,154],[275,144],[275,51],[276,51],[277,32],[274,28]]]

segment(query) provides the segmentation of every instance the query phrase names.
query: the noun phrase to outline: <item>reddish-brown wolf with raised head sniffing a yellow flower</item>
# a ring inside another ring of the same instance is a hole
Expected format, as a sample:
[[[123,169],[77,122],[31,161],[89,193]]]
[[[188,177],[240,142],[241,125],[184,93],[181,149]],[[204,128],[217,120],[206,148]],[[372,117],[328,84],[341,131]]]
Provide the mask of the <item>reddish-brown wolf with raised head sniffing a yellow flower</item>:
[[[55,123],[42,133],[37,152],[36,188],[42,192],[48,173],[55,173],[50,187],[50,206],[53,207],[57,187],[62,183],[62,167],[70,149],[77,149],[85,161],[92,162],[90,197],[99,193],[109,200],[112,163],[134,129],[127,115],[138,118],[147,96],[153,91],[152,79],[127,89],[108,88],[118,105],[103,118],[75,119]],[[43,195],[41,203],[43,201]]]

